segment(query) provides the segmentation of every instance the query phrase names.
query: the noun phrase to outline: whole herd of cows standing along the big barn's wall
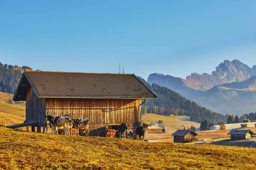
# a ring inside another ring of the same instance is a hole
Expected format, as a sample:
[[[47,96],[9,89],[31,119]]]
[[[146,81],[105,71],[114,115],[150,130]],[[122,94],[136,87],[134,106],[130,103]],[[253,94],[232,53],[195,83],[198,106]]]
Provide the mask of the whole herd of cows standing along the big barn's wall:
[[[79,130],[84,136],[89,136],[89,119],[69,119],[67,116],[51,116],[45,115],[46,120],[44,127],[51,127],[52,133],[63,133],[64,135],[76,135],[79,136]],[[47,132],[48,130],[46,130]],[[133,130],[128,129],[128,125],[122,123],[118,126],[119,138],[133,139]],[[106,136],[113,138],[116,136],[116,130],[107,129]],[[138,140],[144,140],[145,128],[143,126],[137,127],[136,138]]]

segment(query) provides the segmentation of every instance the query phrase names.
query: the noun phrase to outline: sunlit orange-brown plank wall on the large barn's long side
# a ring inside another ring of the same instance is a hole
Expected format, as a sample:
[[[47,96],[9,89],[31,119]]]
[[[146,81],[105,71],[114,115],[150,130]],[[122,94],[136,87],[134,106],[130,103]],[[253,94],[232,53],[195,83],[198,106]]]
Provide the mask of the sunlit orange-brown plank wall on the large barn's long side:
[[[46,113],[57,116],[71,114],[71,119],[88,118],[90,124],[137,123],[140,104],[141,99],[47,98]]]

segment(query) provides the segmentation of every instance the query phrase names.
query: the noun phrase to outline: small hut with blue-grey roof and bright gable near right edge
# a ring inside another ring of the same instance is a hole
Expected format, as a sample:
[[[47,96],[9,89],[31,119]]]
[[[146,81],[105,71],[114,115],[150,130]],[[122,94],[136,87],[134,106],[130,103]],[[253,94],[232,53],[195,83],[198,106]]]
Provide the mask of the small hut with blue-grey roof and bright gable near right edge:
[[[254,134],[250,129],[232,129],[228,135],[231,135],[233,140],[250,139]]]

